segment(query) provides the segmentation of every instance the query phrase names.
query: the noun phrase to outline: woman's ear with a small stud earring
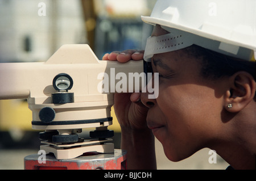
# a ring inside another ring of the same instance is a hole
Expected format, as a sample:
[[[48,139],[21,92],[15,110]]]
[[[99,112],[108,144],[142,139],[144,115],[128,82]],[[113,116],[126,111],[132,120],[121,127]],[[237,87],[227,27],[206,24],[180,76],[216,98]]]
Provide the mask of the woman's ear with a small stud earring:
[[[238,71],[229,79],[229,90],[225,93],[224,106],[229,112],[239,112],[254,100],[256,83],[246,71]]]

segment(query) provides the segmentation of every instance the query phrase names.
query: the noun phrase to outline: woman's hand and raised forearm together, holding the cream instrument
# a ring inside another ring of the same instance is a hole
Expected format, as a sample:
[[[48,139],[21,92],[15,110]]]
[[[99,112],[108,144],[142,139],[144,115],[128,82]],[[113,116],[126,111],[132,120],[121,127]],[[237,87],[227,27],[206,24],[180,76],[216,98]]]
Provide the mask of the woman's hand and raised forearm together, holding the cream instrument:
[[[103,60],[142,60],[143,50],[106,53]],[[125,66],[125,64],[123,65]],[[141,93],[115,93],[114,110],[121,126],[121,149],[127,150],[127,169],[156,169],[154,135],[146,123],[148,108]]]

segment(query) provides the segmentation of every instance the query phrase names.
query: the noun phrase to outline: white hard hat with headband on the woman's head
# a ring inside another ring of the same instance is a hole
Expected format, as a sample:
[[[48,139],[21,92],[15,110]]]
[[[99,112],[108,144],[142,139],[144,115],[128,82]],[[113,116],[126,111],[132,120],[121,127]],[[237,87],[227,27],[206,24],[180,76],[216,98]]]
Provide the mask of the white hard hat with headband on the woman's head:
[[[142,20],[160,24],[170,32],[148,38],[146,61],[155,53],[192,44],[243,60],[255,60],[255,0],[158,0],[151,16],[142,16]]]

